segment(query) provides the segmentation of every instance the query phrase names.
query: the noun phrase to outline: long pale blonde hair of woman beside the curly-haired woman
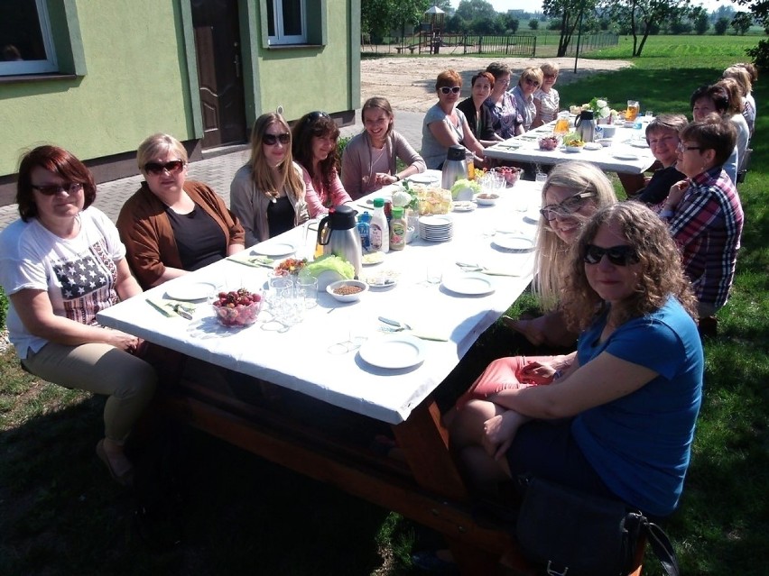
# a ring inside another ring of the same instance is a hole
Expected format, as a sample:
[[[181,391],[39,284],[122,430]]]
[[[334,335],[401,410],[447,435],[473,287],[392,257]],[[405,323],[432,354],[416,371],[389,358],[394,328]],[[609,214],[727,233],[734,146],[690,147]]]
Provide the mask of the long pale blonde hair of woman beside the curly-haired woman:
[[[587,198],[586,202],[598,210],[604,206],[616,203],[616,195],[606,175],[593,164],[573,160],[563,162],[551,169],[542,186],[542,206],[545,206],[547,191],[552,186],[570,188],[574,194],[579,192],[594,192],[595,197]],[[572,215],[581,220],[580,224],[588,221],[589,216]],[[545,217],[540,215],[537,228],[537,255],[534,270],[534,293],[540,297],[544,311],[553,310],[558,306],[561,293],[561,276],[569,265],[569,244],[563,242],[548,224]]]

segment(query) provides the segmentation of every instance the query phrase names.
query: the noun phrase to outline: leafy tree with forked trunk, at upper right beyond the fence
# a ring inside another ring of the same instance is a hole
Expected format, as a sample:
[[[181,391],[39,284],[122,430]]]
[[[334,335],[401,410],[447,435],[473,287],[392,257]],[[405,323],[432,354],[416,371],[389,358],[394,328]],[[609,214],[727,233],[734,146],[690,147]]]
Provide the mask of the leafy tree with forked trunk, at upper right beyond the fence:
[[[633,34],[633,56],[641,56],[646,39],[663,22],[679,22],[687,14],[688,0],[602,0],[614,22]]]

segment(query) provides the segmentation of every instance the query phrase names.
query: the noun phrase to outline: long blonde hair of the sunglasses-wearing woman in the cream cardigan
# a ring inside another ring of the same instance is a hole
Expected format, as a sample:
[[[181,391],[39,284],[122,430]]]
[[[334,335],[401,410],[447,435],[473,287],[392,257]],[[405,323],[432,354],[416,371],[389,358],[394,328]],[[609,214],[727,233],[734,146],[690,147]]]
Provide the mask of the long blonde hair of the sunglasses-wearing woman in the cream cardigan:
[[[301,198],[304,196],[304,182],[293,165],[292,142],[289,141],[285,145],[286,155],[278,165],[277,177],[275,170],[267,163],[264,156],[262,150],[264,134],[273,123],[282,126],[291,138],[291,128],[281,114],[270,112],[256,118],[254,128],[251,130],[251,156],[247,162],[251,168],[251,178],[254,180],[256,189],[268,197],[276,196],[283,187],[286,187],[290,196]]]

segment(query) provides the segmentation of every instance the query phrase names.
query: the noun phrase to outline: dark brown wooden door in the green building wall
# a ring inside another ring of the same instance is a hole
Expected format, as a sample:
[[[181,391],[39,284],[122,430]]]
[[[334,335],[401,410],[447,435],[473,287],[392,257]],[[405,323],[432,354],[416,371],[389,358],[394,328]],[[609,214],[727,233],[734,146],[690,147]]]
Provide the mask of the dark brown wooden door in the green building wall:
[[[246,142],[237,0],[193,0],[202,146]]]

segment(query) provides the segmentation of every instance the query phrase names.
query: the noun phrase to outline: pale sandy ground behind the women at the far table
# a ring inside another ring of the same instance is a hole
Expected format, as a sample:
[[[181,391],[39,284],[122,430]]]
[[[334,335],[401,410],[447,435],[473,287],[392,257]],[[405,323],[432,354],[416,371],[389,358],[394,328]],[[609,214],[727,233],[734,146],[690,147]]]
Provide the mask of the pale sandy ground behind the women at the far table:
[[[395,110],[423,113],[435,103],[435,78],[441,71],[457,70],[462,77],[462,97],[467,97],[470,94],[470,78],[496,60],[500,59],[388,57],[361,60],[361,104],[371,96],[384,96]],[[545,60],[513,58],[503,61],[513,70],[513,82],[516,82],[522,69],[538,66]],[[548,61],[557,63],[561,68],[556,88],[577,78],[586,78],[590,74],[632,66],[626,60],[579,59],[578,73],[574,74],[573,58],[555,58]]]

